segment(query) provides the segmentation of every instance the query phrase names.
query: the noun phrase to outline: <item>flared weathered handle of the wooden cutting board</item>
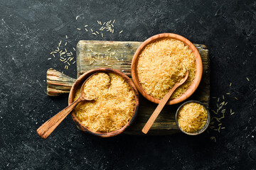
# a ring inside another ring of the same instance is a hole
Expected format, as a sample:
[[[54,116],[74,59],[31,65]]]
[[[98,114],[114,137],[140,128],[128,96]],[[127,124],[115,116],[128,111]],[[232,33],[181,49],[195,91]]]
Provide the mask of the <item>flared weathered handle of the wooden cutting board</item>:
[[[60,94],[68,94],[75,79],[68,77],[62,72],[50,68],[46,72],[47,79],[47,95],[59,96]]]

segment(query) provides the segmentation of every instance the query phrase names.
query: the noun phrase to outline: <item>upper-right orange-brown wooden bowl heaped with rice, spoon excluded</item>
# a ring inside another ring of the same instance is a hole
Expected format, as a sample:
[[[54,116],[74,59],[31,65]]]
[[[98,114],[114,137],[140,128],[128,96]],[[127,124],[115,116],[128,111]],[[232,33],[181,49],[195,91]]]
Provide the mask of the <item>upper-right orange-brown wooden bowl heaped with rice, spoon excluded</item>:
[[[196,47],[181,35],[161,33],[142,42],[132,60],[132,80],[149,101],[160,103],[165,94],[189,72],[186,82],[167,105],[180,103],[196,91],[203,63]]]

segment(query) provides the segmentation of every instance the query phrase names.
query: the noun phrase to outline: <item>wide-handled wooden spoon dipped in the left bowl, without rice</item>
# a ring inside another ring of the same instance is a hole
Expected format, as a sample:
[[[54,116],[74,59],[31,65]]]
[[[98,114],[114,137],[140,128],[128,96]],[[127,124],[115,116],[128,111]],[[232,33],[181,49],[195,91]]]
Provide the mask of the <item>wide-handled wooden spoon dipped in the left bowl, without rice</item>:
[[[95,73],[95,74],[98,74],[98,73]],[[78,103],[80,103],[81,101],[92,101],[92,100],[96,99],[96,97],[95,98],[89,98],[88,96],[86,96],[86,94],[84,92],[86,81],[89,80],[91,77],[95,76],[95,74],[92,74],[82,84],[81,90],[80,90],[80,96],[76,101],[74,101],[73,103],[70,104],[70,106],[64,108],[62,111],[60,111],[59,113],[54,115],[53,118],[50,118],[49,120],[47,120],[46,123],[43,123],[43,125],[41,125],[41,127],[39,127],[36,130],[36,132],[38,132],[39,136],[41,136],[43,139],[46,139],[53,132],[53,130],[55,130],[55,128],[57,128],[58,125],[60,125],[60,123],[64,120],[64,118],[67,117],[67,115],[71,111],[73,111],[73,108],[75,108],[75,106],[77,106]]]

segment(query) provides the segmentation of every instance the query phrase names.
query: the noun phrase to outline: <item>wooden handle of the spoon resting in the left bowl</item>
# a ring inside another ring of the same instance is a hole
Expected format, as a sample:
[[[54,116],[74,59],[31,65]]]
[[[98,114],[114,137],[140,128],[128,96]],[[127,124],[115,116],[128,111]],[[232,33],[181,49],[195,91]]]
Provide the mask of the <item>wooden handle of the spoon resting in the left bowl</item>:
[[[57,128],[58,125],[67,117],[67,115],[75,108],[82,101],[80,98],[70,104],[70,106],[64,108],[58,114],[54,115],[53,118],[47,120],[46,123],[43,123],[41,127],[39,127],[36,132],[38,135],[41,136],[43,139],[46,139],[52,132]]]

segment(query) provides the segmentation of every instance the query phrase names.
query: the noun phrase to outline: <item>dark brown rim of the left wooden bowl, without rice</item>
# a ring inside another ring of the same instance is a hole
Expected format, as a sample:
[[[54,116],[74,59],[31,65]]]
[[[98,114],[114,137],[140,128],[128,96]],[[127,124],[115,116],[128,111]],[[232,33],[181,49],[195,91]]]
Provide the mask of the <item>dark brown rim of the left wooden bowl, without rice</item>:
[[[98,69],[92,69],[88,72],[85,72],[84,74],[82,74],[82,76],[80,76],[75,81],[75,84],[73,84],[73,86],[70,90],[70,94],[68,96],[68,104],[70,105],[71,103],[73,103],[74,97],[75,97],[75,91],[77,91],[77,89],[82,85],[82,83],[88,77],[90,77],[90,75],[95,74],[96,72],[109,72],[109,73],[118,74],[119,76],[123,77],[125,79],[125,81],[127,81],[127,83],[132,87],[132,90],[134,91],[134,95],[135,95],[135,108],[134,108],[134,114],[132,115],[132,119],[129,120],[127,125],[124,125],[123,128],[116,130],[114,132],[94,132],[94,131],[86,128],[85,125],[82,125],[80,120],[78,120],[77,116],[75,115],[75,111],[73,111],[71,113],[71,117],[73,118],[73,120],[74,120],[75,124],[78,126],[78,128],[84,132],[89,132],[92,135],[97,135],[100,137],[112,137],[115,135],[119,135],[120,133],[124,132],[124,130],[126,130],[129,127],[129,125],[131,125],[134,122],[135,118],[137,117],[137,112],[139,109],[139,93],[136,89],[136,86],[134,85],[132,80],[129,79],[129,77],[127,77],[127,75],[123,74],[122,72],[119,72],[117,69],[109,69],[109,68],[98,68]]]

